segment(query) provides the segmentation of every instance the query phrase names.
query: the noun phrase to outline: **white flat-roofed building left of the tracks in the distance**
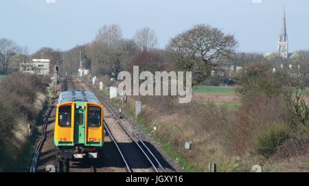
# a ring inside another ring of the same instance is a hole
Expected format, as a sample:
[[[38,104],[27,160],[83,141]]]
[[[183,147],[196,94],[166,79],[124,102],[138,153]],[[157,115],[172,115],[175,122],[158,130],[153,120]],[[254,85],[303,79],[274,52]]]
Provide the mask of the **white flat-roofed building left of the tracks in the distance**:
[[[33,59],[32,62],[21,63],[21,73],[49,75],[50,60],[49,59]]]

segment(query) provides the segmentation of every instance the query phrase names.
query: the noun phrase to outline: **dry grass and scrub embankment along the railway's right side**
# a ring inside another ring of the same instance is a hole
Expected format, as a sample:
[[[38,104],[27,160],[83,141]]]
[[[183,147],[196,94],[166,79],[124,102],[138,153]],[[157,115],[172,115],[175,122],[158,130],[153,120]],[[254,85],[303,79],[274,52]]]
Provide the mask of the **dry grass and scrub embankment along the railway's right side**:
[[[256,69],[258,73],[250,73]],[[256,164],[262,171],[308,172],[309,118],[295,105],[297,87],[286,86],[286,77],[268,73],[264,64],[246,71],[253,77],[240,77],[237,109],[194,100],[179,104],[177,97],[130,96],[126,111],[133,115],[135,101],[141,101],[137,123],[151,133],[157,121],[157,141],[187,171],[207,172],[213,161],[220,172],[249,172]],[[99,81],[116,84],[109,78]],[[113,102],[121,105],[119,97]],[[186,141],[192,141],[192,150],[185,150]]]

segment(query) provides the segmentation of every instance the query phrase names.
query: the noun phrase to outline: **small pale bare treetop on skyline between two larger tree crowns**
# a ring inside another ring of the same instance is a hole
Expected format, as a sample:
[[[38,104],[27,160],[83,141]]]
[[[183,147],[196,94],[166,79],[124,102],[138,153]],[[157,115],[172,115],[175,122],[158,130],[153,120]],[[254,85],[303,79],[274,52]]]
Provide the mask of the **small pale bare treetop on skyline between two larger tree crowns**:
[[[157,35],[150,27],[137,30],[133,40],[143,50],[152,49],[157,45]]]

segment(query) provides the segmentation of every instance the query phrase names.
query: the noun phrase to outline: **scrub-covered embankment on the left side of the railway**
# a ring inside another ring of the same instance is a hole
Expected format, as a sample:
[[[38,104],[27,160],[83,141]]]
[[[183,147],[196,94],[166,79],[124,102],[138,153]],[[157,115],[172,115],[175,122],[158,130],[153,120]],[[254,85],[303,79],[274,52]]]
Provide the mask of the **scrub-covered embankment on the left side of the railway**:
[[[0,172],[26,171],[48,82],[49,78],[35,75],[9,75],[1,80]],[[28,124],[32,126],[31,132]]]

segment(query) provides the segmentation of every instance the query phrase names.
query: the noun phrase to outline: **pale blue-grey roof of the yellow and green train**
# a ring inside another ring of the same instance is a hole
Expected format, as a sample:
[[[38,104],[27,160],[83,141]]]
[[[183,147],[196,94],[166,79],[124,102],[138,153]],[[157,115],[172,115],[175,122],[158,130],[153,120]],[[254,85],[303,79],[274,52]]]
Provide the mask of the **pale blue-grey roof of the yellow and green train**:
[[[94,104],[100,104],[98,97],[95,96],[91,91],[65,91],[60,93],[58,104],[65,102],[91,102]]]

